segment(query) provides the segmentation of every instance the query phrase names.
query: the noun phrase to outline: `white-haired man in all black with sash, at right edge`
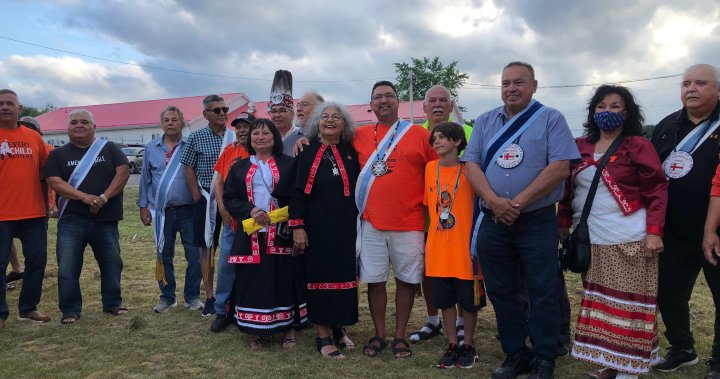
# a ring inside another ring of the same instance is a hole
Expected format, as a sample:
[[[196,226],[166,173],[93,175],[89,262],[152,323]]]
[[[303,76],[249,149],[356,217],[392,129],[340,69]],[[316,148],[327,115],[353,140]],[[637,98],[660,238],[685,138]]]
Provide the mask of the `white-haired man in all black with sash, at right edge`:
[[[720,73],[715,67],[689,67],[680,86],[683,108],[660,121],[652,136],[669,179],[657,300],[671,347],[655,368],[670,372],[699,361],[690,331],[688,300],[702,269],[715,303],[708,378],[720,378],[720,268],[706,261],[702,250],[710,187],[718,165],[719,95]],[[706,230],[705,235],[715,232]]]

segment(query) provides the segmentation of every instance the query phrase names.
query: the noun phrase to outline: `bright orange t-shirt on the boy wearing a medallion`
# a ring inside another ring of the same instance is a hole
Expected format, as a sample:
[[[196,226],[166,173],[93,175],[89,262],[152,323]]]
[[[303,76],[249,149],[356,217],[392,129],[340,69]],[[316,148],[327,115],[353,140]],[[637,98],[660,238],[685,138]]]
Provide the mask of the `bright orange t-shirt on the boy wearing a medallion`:
[[[446,229],[438,229],[440,212],[436,170],[438,161],[432,161],[425,168],[425,198],[428,207],[430,227],[425,242],[425,275],[438,278],[458,278],[473,280],[472,260],[470,259],[470,235],[473,222],[474,193],[470,182],[465,178],[465,169],[458,173],[460,165],[440,166],[440,191],[450,196],[442,201],[446,206],[452,202],[449,222]],[[455,181],[460,175],[458,189],[453,201]],[[482,273],[479,272],[480,278]]]

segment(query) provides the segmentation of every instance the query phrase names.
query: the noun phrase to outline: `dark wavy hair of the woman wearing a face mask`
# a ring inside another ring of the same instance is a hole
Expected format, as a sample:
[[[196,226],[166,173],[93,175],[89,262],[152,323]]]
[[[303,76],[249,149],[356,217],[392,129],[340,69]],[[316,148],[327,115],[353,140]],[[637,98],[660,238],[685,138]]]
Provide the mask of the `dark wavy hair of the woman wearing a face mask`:
[[[629,89],[623,86],[613,86],[603,84],[595,91],[593,97],[588,102],[588,117],[583,126],[585,127],[585,135],[588,142],[597,142],[600,139],[600,128],[595,123],[593,115],[595,107],[605,98],[605,96],[614,93],[620,96],[625,102],[625,123],[623,124],[622,134],[626,136],[642,135],[642,124],[645,121],[640,105],[635,102],[635,98]]]

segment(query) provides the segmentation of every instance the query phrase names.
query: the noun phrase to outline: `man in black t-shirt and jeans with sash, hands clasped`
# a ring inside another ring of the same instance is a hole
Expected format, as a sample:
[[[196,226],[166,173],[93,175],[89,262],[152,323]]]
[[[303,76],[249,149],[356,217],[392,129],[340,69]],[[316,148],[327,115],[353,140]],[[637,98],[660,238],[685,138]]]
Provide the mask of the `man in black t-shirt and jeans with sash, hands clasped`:
[[[63,324],[80,318],[80,271],[90,245],[100,267],[103,312],[119,316],[122,305],[122,258],[118,221],[123,217],[123,188],[129,163],[112,142],[95,138],[92,113],[76,109],[68,114],[70,142],[50,152],[45,164],[48,184],[58,194],[58,297]]]

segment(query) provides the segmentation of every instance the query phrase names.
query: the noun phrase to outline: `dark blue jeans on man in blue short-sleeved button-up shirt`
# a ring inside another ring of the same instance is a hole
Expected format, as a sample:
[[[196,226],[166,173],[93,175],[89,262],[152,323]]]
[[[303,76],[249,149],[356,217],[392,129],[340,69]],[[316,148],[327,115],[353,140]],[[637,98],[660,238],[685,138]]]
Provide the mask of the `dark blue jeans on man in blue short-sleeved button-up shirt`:
[[[560,334],[555,209],[547,207],[530,213],[521,215],[511,226],[496,224],[486,213],[478,253],[503,351],[524,351],[529,332],[533,340],[531,355],[554,362]],[[520,272],[527,283],[527,321],[520,302]]]

